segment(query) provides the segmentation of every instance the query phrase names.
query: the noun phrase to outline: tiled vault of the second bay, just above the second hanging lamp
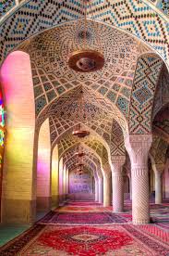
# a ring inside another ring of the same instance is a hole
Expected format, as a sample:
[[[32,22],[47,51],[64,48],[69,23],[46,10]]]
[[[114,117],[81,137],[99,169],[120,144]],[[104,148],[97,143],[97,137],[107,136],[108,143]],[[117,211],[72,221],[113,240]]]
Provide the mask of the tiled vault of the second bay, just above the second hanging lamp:
[[[94,98],[91,98],[91,94],[86,88],[83,89],[82,95],[80,92],[81,86],[74,90],[71,97],[64,96],[62,105],[54,106],[49,117],[52,145],[55,144],[59,136],[72,130],[78,123],[83,123],[91,128],[92,131],[102,136],[109,145],[112,129],[111,115],[98,107],[99,104]],[[62,96],[60,101],[61,99]]]

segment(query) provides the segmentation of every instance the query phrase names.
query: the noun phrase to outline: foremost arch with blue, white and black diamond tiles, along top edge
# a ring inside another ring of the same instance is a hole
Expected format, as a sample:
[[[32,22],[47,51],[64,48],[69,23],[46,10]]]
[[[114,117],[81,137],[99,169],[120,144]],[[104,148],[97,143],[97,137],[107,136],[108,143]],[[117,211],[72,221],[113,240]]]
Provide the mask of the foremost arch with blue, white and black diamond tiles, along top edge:
[[[6,1],[8,5],[9,1]],[[167,0],[160,1],[160,8],[168,12]],[[155,9],[141,0],[94,0],[92,4],[94,19],[114,25],[130,32],[154,47],[165,60],[168,51],[168,26],[166,17],[158,15]],[[9,51],[31,35],[49,29],[70,19],[80,17],[78,1],[26,1],[15,12],[2,20],[0,38],[1,61]],[[90,14],[89,14],[90,18]],[[121,42],[120,42],[121,43]]]

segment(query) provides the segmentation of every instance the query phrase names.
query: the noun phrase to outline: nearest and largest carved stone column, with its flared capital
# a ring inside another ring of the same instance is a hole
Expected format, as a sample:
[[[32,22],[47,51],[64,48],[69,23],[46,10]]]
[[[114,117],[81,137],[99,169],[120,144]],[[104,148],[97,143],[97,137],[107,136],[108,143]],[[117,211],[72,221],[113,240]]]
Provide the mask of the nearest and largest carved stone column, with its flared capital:
[[[150,222],[148,153],[151,142],[151,134],[129,135],[125,141],[131,160],[133,224]]]

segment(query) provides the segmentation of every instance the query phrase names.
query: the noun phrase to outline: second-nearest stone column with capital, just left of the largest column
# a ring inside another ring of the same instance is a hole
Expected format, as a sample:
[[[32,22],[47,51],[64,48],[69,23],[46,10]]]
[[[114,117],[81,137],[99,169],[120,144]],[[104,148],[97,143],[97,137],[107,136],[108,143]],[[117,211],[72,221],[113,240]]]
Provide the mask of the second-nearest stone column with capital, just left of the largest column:
[[[124,210],[124,172],[123,165],[125,157],[114,157],[112,159],[112,186],[113,186],[113,211],[122,212]]]

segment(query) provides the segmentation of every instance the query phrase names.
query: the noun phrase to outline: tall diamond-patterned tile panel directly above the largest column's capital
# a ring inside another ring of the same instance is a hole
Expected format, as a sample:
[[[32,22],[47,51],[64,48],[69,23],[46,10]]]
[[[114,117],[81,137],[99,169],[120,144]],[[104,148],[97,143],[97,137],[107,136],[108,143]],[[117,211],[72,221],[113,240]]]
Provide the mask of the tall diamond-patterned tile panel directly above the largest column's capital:
[[[163,61],[157,56],[139,58],[129,109],[129,134],[151,133],[153,96]]]

